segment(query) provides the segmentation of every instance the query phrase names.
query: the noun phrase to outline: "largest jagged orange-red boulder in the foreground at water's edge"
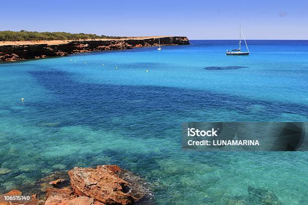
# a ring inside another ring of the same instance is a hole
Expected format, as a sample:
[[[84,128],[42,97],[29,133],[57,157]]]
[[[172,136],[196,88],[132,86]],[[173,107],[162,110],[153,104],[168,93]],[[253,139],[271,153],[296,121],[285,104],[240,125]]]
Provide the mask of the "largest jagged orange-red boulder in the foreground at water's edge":
[[[116,165],[93,168],[74,167],[68,171],[71,187],[76,195],[86,195],[106,204],[131,204],[133,196],[127,193],[128,182],[116,173]]]

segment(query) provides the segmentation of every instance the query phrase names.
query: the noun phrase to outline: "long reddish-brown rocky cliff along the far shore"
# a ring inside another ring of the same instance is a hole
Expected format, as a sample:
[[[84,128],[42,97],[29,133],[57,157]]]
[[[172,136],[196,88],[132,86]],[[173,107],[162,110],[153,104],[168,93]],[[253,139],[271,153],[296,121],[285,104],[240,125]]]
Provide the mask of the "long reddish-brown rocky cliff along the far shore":
[[[130,38],[120,40],[75,40],[60,44],[24,44],[24,45],[1,45],[0,61],[17,61],[50,56],[65,56],[73,53],[131,49],[138,47],[158,46],[158,38]],[[161,45],[187,45],[187,37],[162,37]]]

